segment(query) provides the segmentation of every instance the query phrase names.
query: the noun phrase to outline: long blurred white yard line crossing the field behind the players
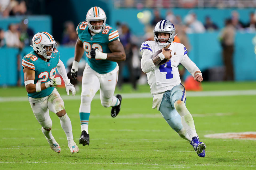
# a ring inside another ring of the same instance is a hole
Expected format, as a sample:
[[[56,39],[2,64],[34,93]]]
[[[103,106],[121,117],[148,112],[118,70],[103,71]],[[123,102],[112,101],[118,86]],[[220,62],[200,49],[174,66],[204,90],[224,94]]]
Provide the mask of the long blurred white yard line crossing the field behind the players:
[[[225,91],[187,91],[188,97],[202,97],[202,96],[241,96],[241,95],[256,95],[256,90],[225,90]],[[67,96],[61,95],[63,100],[80,100],[80,96]],[[153,98],[150,93],[124,93],[122,94],[124,99],[133,98]],[[94,96],[94,99],[99,99],[99,94]],[[0,102],[12,102],[12,101],[28,101],[27,97],[0,97]]]

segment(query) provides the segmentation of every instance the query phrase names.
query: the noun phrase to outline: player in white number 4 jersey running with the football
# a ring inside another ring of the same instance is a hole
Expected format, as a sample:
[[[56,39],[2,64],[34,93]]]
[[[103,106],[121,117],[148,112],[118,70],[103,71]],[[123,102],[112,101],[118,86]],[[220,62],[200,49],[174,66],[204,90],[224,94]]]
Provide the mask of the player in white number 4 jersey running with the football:
[[[205,143],[200,142],[193,118],[186,108],[186,91],[181,84],[178,65],[181,63],[201,82],[202,73],[187,56],[187,49],[183,44],[173,43],[175,27],[169,20],[161,20],[154,28],[154,40],[145,41],[141,45],[141,68],[147,73],[147,81],[153,94],[153,108],[157,108],[167,123],[180,137],[186,139],[193,146],[200,157],[205,157]],[[166,51],[164,49],[170,49]],[[162,52],[153,57],[158,50]],[[159,66],[159,63],[167,62]]]

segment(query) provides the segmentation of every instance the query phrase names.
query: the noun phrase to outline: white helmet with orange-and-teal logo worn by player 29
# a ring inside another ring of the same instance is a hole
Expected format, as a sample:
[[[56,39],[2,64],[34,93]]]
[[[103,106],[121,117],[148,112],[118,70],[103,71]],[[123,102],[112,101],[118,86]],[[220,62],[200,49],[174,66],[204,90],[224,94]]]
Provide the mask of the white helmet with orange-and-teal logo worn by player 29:
[[[51,36],[48,32],[36,33],[32,39],[32,45],[30,46],[46,59],[56,57],[57,53],[55,51],[57,51],[57,43],[54,41],[53,36]],[[47,52],[52,53],[48,54],[47,56]]]

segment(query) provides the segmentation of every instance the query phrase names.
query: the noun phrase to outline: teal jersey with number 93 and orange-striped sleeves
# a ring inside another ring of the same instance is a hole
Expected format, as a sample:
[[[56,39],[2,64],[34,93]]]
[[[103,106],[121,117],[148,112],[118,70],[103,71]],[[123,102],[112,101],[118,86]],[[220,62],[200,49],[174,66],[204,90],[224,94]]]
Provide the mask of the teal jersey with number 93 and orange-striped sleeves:
[[[88,55],[92,48],[97,48],[103,53],[111,53],[108,43],[114,40],[118,40],[119,33],[116,29],[110,27],[106,24],[105,29],[94,36],[89,33],[87,22],[80,22],[77,26],[77,35],[79,39],[83,42],[83,48],[86,52],[86,61],[89,66],[100,74],[106,74],[114,70],[117,63],[109,60],[95,60],[90,58]]]

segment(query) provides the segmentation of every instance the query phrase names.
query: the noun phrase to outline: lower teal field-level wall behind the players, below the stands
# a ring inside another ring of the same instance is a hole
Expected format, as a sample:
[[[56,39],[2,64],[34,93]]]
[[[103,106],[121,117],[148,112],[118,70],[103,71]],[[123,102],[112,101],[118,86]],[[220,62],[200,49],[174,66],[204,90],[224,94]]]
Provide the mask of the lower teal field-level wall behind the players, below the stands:
[[[189,39],[193,47],[188,53],[202,71],[207,68],[222,66],[221,46],[217,39],[219,33],[190,34]],[[253,33],[237,33],[235,36],[234,74],[236,81],[256,80],[256,57],[254,53]],[[194,42],[193,42],[194,41]],[[23,49],[21,56],[32,50],[31,47]],[[74,57],[74,47],[58,46],[61,60],[67,66],[67,60]],[[18,49],[0,48],[3,62],[0,67],[0,85],[14,86],[17,84],[17,54]],[[22,58],[21,57],[21,58]],[[20,71],[23,82],[23,72]]]

